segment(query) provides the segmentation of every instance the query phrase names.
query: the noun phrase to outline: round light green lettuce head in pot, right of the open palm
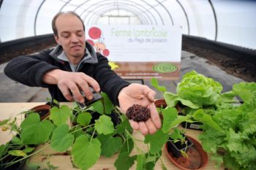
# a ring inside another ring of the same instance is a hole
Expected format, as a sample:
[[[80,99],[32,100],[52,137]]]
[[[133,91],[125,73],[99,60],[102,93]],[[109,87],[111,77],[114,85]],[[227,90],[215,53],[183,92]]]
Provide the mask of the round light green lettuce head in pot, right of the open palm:
[[[203,74],[198,74],[194,70],[184,74],[181,82],[178,82],[176,93],[170,93],[165,87],[159,86],[156,79],[151,80],[151,85],[162,92],[167,106],[178,107],[179,115],[193,115],[197,109],[203,109],[205,113],[211,115],[218,105],[232,102],[233,98],[229,93],[221,93],[222,85]],[[202,122],[192,119],[181,123],[184,128],[202,130]]]

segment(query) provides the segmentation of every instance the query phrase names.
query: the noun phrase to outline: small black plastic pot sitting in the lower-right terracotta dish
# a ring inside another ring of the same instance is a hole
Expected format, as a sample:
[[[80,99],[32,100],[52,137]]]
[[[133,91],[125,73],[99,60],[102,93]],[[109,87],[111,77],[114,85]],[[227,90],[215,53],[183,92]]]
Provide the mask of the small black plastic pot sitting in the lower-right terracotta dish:
[[[167,151],[172,152],[173,155],[177,158],[181,157],[181,150],[183,150],[184,152],[187,152],[189,147],[193,146],[192,140],[187,138],[187,136],[185,137],[185,139],[187,140],[187,144],[181,144],[180,141],[174,143],[173,139],[171,139],[171,138],[169,138],[169,139],[170,139],[170,141],[167,142]]]

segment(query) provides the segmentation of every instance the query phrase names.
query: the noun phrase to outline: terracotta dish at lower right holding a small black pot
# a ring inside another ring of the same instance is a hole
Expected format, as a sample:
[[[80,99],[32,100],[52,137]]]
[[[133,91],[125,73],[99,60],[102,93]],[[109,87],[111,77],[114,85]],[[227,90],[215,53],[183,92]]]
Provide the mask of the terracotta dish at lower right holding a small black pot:
[[[189,147],[187,150],[188,158],[183,156],[176,158],[172,152],[168,152],[167,143],[165,144],[165,149],[167,151],[167,156],[170,158],[170,161],[173,162],[179,169],[187,170],[187,169],[203,169],[208,163],[208,155],[203,150],[202,145],[197,142],[191,136],[187,136],[192,142],[193,146]]]

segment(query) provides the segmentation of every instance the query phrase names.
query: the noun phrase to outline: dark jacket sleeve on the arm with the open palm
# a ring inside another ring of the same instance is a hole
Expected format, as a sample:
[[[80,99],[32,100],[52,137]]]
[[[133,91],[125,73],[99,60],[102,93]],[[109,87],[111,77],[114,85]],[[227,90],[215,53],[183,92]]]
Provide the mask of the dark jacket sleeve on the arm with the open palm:
[[[113,72],[108,65],[108,59],[97,53],[98,64],[96,66],[95,80],[99,82],[101,90],[108,94],[113,104],[119,106],[118,94],[122,88],[127,87],[130,83],[121,79]]]

